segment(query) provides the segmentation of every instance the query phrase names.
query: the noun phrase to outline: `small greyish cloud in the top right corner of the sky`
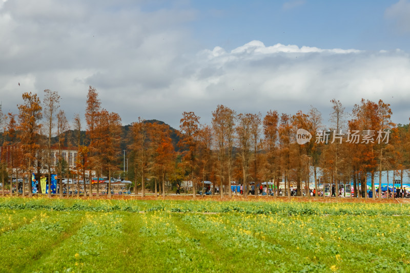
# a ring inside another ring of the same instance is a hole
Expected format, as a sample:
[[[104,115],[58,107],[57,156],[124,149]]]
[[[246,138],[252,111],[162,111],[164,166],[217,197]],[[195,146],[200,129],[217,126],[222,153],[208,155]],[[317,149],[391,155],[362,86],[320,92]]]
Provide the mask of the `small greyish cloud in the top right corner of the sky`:
[[[410,32],[410,2],[407,0],[400,0],[387,8],[384,15],[395,23],[395,27],[399,32]]]

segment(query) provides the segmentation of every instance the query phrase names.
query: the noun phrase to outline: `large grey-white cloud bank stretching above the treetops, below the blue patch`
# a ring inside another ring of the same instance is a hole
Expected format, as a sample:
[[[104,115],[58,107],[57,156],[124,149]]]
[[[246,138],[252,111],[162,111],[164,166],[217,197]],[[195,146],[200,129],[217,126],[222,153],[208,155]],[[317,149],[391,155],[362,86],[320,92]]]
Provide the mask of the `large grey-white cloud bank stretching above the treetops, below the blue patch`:
[[[0,2],[1,3],[1,2]],[[187,8],[141,9],[122,1],[7,1],[0,4],[0,94],[16,113],[25,91],[58,91],[68,119],[84,115],[88,86],[102,107],[129,124],[138,116],[178,127],[183,111],[209,123],[218,104],[237,112],[294,114],[330,100],[351,109],[361,98],[383,99],[393,120],[407,123],[407,52],[265,46],[201,49]],[[20,86],[17,83],[20,83]],[[83,116],[84,117],[84,116]],[[83,118],[84,119],[84,118]]]

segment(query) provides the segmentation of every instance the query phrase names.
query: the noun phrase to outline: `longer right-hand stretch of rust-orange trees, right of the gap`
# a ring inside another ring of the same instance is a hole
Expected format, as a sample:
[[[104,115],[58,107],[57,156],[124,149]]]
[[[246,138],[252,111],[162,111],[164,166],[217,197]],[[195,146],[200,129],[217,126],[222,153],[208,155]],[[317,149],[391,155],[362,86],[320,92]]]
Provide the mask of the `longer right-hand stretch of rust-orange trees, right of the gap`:
[[[375,192],[375,177],[381,177],[385,170],[395,170],[391,181],[397,174],[402,183],[408,168],[409,132],[407,125],[396,127],[391,121],[389,104],[363,99],[352,113],[346,113],[340,101],[333,99],[331,103],[329,128],[324,127],[320,112],[313,107],[309,113],[299,111],[295,115],[269,111],[262,118],[260,113],[237,114],[220,105],[212,112],[210,125],[200,124],[193,112],[184,112],[177,147],[180,153],[172,148],[168,125],[139,119],[133,123],[130,146],[135,182],[141,182],[144,195],[147,178],[154,178],[155,183],[162,183],[165,195],[166,181],[187,179],[193,181],[195,196],[196,186],[202,189],[203,181],[210,180],[219,185],[221,197],[224,186],[231,188],[231,181],[248,189],[250,182],[271,181],[276,189],[284,185],[288,196],[291,185],[296,185],[300,196],[303,188],[309,189],[310,183],[315,183],[318,193],[319,182],[336,184],[337,192],[339,183],[353,182],[355,196],[359,196],[359,189],[363,189],[364,194],[367,176],[371,177]],[[314,138],[297,144],[298,129],[308,130]],[[328,131],[329,142],[316,140],[318,131]],[[350,135],[343,131],[368,131],[375,136],[371,141],[355,143],[349,142]],[[377,141],[377,132],[382,132],[384,137],[388,135],[389,139]],[[314,181],[310,181],[311,177]],[[381,182],[379,179],[379,189]],[[228,190],[228,195],[231,194]],[[247,191],[243,194],[246,196]],[[274,191],[274,196],[276,194]]]

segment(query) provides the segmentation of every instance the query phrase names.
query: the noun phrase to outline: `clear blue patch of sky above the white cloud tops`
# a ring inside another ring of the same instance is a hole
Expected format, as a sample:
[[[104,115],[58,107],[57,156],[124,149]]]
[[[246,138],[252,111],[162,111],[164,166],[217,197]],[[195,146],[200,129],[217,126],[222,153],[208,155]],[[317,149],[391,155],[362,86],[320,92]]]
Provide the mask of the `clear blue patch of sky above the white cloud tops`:
[[[195,1],[192,24],[204,47],[233,49],[250,40],[360,50],[408,49],[409,37],[385,16],[397,1]]]

